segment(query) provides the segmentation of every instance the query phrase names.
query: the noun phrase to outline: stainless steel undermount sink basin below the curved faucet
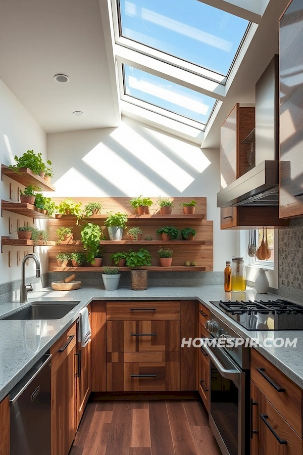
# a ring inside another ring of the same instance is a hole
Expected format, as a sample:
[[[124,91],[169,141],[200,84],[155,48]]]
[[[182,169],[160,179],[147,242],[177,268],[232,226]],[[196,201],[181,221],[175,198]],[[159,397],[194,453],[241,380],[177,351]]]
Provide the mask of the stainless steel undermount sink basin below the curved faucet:
[[[62,302],[32,302],[26,308],[20,309],[10,316],[3,317],[3,321],[21,321],[37,319],[62,319],[69,313],[80,301],[62,301]]]

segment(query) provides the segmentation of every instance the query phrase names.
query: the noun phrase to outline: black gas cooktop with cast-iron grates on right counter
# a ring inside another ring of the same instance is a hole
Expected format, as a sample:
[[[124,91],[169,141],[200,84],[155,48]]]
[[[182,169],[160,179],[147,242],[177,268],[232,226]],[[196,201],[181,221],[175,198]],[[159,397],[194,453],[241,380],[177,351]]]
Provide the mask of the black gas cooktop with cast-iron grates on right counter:
[[[303,306],[287,300],[211,303],[247,330],[303,330]]]

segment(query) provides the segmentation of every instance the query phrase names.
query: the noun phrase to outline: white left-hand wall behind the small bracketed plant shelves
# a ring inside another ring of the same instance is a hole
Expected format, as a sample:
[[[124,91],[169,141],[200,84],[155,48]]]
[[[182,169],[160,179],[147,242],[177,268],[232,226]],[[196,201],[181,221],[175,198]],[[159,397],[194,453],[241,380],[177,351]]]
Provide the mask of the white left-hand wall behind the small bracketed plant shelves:
[[[14,164],[14,156],[21,156],[27,150],[41,152],[46,158],[46,133],[33,119],[24,106],[17,100],[8,87],[0,80],[0,159],[1,163],[9,165]],[[4,200],[10,200],[10,183],[13,188],[12,202],[17,202],[18,187],[24,187],[14,180],[4,176],[0,181],[0,195]],[[12,220],[12,234],[9,233],[9,218]],[[33,225],[33,219],[17,215],[11,212],[3,211],[0,219],[1,236],[10,236],[17,238],[17,220],[20,225],[24,221]],[[41,223],[41,222],[40,222]],[[42,227],[42,225],[41,225]],[[9,267],[9,251],[12,252],[12,267]],[[0,255],[0,284],[7,283],[21,278],[21,266],[17,265],[17,251],[20,251],[21,257],[24,253],[33,252],[33,247],[3,247],[3,253]],[[41,259],[42,273],[47,271],[46,248],[37,248],[37,254]],[[27,277],[35,275],[33,261],[27,265]]]

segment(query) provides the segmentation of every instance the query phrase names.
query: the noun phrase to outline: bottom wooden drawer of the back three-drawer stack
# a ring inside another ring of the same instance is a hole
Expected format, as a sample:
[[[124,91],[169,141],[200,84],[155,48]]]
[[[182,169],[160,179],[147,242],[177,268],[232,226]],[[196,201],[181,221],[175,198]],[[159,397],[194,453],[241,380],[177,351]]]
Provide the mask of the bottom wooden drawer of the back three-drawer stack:
[[[180,390],[179,362],[107,363],[108,392]]]

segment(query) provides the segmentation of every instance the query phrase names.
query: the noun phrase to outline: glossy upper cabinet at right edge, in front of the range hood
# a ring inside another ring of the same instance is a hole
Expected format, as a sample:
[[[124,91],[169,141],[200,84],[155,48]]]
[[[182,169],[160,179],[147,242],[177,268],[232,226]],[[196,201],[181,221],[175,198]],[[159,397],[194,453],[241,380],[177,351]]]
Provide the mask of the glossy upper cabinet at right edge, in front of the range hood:
[[[303,215],[303,3],[280,19],[280,217]]]

